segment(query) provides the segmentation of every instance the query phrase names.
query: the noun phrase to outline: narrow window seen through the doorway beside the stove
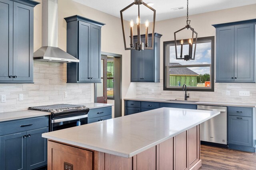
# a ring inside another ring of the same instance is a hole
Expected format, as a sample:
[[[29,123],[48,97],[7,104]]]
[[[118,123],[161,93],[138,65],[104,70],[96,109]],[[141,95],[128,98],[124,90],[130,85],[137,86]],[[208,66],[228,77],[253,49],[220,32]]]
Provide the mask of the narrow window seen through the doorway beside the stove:
[[[114,58],[108,56],[107,60],[107,96],[114,100]]]

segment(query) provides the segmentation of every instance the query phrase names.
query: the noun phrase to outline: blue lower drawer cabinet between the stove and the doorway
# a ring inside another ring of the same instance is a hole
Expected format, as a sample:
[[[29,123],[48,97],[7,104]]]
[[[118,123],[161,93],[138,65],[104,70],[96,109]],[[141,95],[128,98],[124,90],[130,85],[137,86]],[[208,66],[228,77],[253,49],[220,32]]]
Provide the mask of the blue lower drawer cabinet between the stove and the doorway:
[[[112,107],[100,107],[90,109],[88,112],[88,123],[103,121],[112,118]]]

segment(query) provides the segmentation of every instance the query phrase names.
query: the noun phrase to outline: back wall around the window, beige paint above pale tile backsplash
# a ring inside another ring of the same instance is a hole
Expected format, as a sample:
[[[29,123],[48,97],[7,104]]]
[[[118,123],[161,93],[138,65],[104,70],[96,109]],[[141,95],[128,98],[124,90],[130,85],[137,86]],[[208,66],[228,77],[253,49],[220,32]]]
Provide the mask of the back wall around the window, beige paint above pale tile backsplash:
[[[256,18],[256,4],[230,8],[189,16],[191,26],[197,31],[198,37],[215,36],[212,24],[232,21],[249,20]],[[174,40],[174,32],[186,25],[186,17],[163,20],[156,22],[156,32],[163,34],[161,37],[160,52],[160,83],[137,83],[137,97],[183,99],[184,92],[163,90],[163,41]],[[151,93],[151,89],[155,93]],[[214,92],[189,92],[189,100],[229,101],[256,103],[256,83],[215,83]],[[226,96],[230,90],[230,96]],[[250,97],[240,97],[240,90],[250,91]]]

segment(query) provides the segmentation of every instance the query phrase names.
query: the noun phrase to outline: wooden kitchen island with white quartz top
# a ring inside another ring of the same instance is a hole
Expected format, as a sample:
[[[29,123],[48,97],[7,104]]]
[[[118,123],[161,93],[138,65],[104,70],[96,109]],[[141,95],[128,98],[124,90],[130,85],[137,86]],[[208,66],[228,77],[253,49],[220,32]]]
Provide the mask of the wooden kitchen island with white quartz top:
[[[200,123],[218,114],[163,107],[44,133],[48,170],[197,170]]]

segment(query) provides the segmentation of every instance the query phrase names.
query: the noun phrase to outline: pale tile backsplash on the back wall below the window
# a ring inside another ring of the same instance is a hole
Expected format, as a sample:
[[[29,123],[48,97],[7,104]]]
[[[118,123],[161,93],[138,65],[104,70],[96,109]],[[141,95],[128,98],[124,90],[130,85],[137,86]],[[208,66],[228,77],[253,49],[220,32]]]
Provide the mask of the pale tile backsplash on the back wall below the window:
[[[154,89],[154,93],[152,93]],[[226,90],[230,96],[226,96]],[[250,91],[250,96],[239,96],[239,91]],[[256,103],[256,83],[215,83],[214,92],[187,92],[188,100]],[[137,83],[137,98],[164,98],[184,100],[185,92],[163,90],[163,80],[160,83]]]

